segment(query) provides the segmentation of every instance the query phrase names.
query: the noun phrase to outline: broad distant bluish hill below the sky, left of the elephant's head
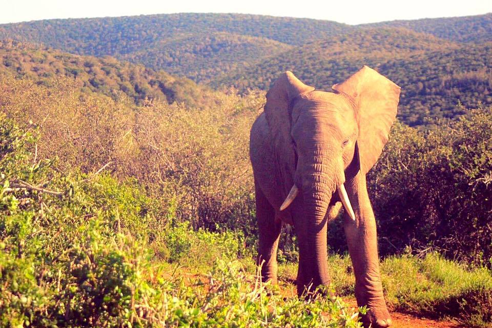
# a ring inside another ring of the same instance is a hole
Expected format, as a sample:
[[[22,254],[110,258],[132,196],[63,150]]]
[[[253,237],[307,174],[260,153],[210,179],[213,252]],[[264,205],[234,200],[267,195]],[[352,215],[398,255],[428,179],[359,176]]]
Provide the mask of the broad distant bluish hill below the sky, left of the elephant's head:
[[[307,18],[181,13],[4,24],[0,39],[79,55],[111,55],[202,81],[288,50],[288,45],[351,29]]]

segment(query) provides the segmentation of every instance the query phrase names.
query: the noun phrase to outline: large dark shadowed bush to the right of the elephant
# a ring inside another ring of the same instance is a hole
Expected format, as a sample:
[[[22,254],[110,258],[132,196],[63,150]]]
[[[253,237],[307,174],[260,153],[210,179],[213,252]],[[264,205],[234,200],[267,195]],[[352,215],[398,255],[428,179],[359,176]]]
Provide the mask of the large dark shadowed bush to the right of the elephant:
[[[492,262],[492,108],[421,134],[397,124],[368,187],[383,254],[434,247]]]

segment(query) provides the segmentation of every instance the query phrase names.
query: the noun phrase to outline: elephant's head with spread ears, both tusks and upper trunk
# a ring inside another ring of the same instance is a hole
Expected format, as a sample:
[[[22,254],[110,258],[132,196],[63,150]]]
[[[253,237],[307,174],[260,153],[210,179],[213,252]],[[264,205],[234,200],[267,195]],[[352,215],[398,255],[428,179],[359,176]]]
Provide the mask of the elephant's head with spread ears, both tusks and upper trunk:
[[[365,174],[373,167],[388,140],[400,94],[400,87],[367,66],[333,89],[336,93],[314,91],[287,71],[267,93],[264,107],[289,190],[279,210],[301,191],[316,224],[335,191],[355,219],[345,174]]]

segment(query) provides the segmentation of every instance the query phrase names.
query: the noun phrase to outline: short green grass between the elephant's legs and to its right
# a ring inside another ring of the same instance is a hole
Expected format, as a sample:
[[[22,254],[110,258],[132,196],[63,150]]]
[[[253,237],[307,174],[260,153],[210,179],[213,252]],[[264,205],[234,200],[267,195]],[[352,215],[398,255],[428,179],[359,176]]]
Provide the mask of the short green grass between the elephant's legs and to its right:
[[[337,295],[354,297],[350,257],[331,255],[328,261]],[[280,265],[281,281],[293,282],[296,273],[296,263]],[[381,262],[381,279],[386,302],[393,310],[431,318],[453,317],[470,327],[492,322],[492,272],[488,269],[469,269],[438,253],[423,258],[391,256]]]

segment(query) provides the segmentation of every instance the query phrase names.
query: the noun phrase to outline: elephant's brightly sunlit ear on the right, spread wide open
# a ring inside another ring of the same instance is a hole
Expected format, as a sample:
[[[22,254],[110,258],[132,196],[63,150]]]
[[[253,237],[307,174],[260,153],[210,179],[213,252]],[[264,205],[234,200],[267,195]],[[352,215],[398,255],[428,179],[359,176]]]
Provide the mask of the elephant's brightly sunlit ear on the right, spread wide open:
[[[333,90],[351,96],[359,115],[360,169],[365,174],[374,166],[388,141],[396,118],[401,88],[375,70],[364,66]]]

